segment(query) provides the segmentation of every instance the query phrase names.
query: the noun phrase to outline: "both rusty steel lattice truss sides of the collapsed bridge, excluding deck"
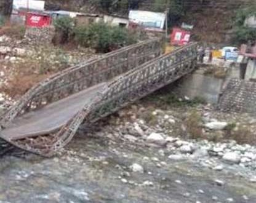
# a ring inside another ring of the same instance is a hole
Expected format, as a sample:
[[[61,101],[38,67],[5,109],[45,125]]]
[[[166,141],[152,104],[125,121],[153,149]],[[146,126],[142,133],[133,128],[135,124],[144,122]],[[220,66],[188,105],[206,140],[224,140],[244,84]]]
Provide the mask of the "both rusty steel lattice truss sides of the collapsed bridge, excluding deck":
[[[41,82],[4,114],[1,121],[3,127],[20,114],[109,81],[102,92],[86,103],[61,129],[47,135],[7,141],[25,151],[52,156],[70,142],[82,123],[89,126],[190,73],[197,65],[196,44],[182,47],[171,54],[160,55],[161,42],[154,39],[74,66]]]

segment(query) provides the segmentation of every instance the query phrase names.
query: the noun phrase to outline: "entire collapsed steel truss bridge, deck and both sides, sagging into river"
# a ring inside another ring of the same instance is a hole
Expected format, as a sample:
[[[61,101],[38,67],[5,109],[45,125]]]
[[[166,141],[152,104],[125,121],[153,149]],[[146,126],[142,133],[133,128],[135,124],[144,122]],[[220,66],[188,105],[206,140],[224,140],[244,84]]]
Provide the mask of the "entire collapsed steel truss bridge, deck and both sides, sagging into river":
[[[162,55],[159,39],[143,41],[72,66],[31,88],[1,117],[0,155],[53,156],[89,126],[197,65],[197,45]]]

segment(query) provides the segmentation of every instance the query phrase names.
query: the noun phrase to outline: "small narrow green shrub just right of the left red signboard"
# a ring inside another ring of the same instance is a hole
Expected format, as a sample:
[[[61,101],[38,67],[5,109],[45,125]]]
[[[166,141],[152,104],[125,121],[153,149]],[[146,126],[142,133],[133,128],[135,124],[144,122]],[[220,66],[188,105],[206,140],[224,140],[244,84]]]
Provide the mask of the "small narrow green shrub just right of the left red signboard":
[[[54,21],[54,26],[60,34],[60,43],[68,42],[74,32],[74,20],[71,17],[60,17]]]

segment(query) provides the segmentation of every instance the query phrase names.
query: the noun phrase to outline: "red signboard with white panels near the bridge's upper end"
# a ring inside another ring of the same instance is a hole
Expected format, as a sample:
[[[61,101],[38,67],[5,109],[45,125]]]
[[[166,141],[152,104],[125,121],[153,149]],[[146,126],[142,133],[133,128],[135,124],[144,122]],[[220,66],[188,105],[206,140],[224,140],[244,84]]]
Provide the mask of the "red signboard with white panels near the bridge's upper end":
[[[170,36],[170,43],[172,45],[183,46],[190,42],[190,32],[180,28],[174,28]]]

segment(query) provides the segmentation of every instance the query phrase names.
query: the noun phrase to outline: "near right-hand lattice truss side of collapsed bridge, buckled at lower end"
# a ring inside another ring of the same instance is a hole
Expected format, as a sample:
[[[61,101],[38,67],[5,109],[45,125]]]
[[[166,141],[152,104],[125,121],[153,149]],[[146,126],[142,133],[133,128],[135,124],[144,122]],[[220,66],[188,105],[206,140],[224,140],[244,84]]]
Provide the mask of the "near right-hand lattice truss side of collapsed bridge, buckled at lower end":
[[[55,134],[56,142],[45,148],[44,155],[50,156],[65,146],[82,122],[84,125],[90,125],[101,117],[190,73],[196,68],[197,57],[197,44],[190,44],[171,54],[151,60],[115,79]]]

